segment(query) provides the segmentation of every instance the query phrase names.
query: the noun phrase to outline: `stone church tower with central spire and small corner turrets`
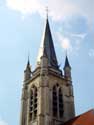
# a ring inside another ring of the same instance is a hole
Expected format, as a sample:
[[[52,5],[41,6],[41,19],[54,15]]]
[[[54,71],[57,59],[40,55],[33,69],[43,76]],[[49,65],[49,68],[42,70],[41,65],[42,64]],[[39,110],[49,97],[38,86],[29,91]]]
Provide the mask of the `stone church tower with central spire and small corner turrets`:
[[[28,59],[24,71],[20,125],[60,125],[74,116],[71,66],[66,56],[59,69],[47,18],[36,68]]]

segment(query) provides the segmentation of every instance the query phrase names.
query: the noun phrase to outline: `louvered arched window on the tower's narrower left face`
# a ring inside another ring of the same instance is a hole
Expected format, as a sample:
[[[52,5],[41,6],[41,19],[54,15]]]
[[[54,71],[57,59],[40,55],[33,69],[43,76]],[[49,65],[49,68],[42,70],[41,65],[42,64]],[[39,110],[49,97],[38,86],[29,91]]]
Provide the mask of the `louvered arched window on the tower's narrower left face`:
[[[34,86],[30,93],[30,120],[37,117],[37,88]]]

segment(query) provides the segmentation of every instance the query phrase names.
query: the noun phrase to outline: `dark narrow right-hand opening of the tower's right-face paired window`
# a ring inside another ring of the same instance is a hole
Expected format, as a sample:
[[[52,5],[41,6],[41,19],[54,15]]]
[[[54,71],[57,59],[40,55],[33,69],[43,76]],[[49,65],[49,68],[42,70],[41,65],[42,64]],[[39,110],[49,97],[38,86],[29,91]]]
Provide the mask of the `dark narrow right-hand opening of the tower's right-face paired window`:
[[[59,88],[59,117],[63,117],[63,96],[61,88]]]

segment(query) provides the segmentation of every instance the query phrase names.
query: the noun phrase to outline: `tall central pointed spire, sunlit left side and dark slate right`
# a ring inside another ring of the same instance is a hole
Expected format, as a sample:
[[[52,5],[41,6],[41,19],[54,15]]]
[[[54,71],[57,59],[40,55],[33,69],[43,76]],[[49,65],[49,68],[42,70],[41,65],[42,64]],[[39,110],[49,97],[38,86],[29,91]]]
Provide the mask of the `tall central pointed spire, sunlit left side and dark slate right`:
[[[48,21],[48,11],[47,11],[46,26],[45,26],[45,30],[43,33],[43,39],[42,39],[41,47],[40,47],[38,58],[37,58],[38,65],[40,65],[40,61],[41,61],[40,58],[43,55],[46,55],[46,57],[48,58],[49,66],[51,66],[55,69],[59,68],[55,49],[54,49],[54,44],[53,44],[53,40],[52,40],[52,35],[51,35],[51,31],[50,31],[49,21]]]

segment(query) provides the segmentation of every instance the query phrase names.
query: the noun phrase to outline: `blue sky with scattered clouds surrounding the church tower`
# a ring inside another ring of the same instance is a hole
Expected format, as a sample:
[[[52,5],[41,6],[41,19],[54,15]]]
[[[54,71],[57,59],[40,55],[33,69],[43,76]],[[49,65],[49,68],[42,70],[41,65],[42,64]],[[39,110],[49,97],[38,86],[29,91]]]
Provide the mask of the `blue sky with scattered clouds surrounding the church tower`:
[[[67,48],[76,114],[94,108],[94,1],[0,0],[0,125],[18,125],[28,51],[32,70],[45,24],[45,7],[61,69]]]

